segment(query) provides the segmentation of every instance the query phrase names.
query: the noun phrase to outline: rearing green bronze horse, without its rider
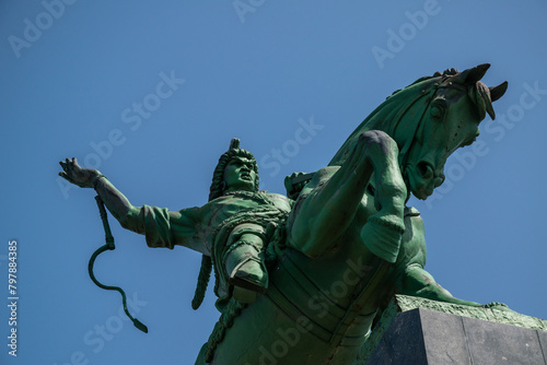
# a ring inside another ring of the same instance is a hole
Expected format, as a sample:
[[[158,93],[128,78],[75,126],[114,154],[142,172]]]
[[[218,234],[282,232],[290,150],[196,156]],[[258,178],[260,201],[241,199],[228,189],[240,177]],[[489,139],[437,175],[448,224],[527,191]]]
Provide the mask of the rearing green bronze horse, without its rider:
[[[286,180],[298,198],[267,249],[269,287],[252,304],[228,304],[196,364],[348,365],[394,294],[482,306],[423,270],[423,222],[406,202],[431,196],[446,158],[475,141],[486,114],[494,118],[508,83],[487,87],[488,68],[437,72],[395,92],[327,167]]]

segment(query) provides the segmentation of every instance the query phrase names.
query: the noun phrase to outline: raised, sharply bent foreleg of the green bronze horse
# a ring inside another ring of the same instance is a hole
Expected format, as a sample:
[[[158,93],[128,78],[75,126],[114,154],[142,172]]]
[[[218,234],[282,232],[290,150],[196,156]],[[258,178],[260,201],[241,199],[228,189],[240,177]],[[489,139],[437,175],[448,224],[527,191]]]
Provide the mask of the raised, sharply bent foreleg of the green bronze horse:
[[[377,237],[365,244],[381,248],[393,246],[389,252],[370,247],[393,262],[405,228],[403,214],[407,197],[397,158],[398,148],[386,133],[362,133],[342,166],[317,172],[304,188],[289,219],[291,245],[311,257],[325,254],[353,223],[374,173],[374,205],[379,212],[370,217],[370,227],[361,236],[369,235],[366,231],[371,228],[376,232]]]

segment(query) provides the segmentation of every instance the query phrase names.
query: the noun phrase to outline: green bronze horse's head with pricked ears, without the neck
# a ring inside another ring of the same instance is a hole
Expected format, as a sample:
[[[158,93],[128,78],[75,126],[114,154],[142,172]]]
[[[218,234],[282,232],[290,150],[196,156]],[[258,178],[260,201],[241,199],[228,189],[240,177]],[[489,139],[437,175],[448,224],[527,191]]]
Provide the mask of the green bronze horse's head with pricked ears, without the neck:
[[[406,114],[393,137],[406,146],[399,156],[401,173],[417,198],[426,199],[444,181],[446,158],[476,140],[478,126],[486,114],[496,118],[492,102],[503,95],[508,84],[489,89],[480,82],[489,67],[485,63],[463,72],[447,70],[416,85],[427,83],[430,86],[430,93],[427,89],[422,91],[429,94],[427,106],[416,127],[405,120],[417,119],[416,115]],[[412,139],[408,141],[410,136]]]

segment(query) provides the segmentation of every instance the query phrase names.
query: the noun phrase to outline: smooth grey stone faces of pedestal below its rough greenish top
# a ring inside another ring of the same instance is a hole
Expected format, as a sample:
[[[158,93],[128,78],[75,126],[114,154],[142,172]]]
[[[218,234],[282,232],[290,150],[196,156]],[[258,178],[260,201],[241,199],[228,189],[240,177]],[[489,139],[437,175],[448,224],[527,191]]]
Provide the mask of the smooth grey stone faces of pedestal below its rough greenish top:
[[[399,313],[366,365],[547,365],[547,332],[430,309]]]

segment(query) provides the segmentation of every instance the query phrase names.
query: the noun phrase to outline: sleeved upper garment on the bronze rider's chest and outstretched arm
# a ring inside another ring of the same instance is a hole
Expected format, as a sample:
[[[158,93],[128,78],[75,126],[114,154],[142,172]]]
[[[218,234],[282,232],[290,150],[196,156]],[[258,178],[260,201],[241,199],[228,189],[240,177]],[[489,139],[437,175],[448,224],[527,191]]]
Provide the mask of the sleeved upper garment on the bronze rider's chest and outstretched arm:
[[[222,251],[233,227],[256,223],[264,227],[276,225],[287,215],[292,200],[270,192],[235,191],[209,201],[202,207],[170,211],[166,208],[143,205],[129,216],[124,226],[144,234],[150,247],[185,246],[207,256]],[[271,231],[271,229],[269,229]],[[221,264],[221,262],[218,262]],[[217,295],[224,297],[228,287],[221,280]]]

